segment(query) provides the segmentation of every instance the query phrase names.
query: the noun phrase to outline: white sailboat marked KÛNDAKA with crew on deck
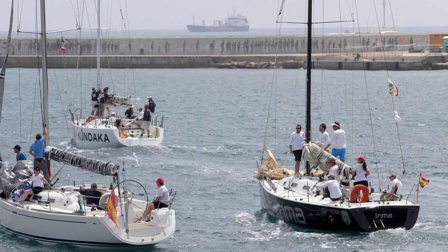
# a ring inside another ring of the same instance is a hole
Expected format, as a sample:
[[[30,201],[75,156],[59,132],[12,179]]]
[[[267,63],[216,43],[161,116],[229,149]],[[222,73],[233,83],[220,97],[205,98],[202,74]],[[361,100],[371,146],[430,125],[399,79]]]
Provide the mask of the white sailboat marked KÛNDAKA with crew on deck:
[[[100,10],[101,1],[97,0],[97,90],[101,91],[100,53],[101,53],[101,28]],[[78,27],[82,29],[82,27]],[[112,95],[109,98],[114,107],[128,108],[135,100],[128,96]],[[134,116],[132,118],[93,118],[80,114],[80,109],[70,111],[73,128],[72,142],[78,149],[120,148],[126,146],[157,146],[163,140],[163,115],[151,115],[150,133],[142,133],[141,123]],[[120,114],[118,114],[120,115]],[[110,115],[109,115],[110,116]],[[142,118],[140,118],[142,120]]]

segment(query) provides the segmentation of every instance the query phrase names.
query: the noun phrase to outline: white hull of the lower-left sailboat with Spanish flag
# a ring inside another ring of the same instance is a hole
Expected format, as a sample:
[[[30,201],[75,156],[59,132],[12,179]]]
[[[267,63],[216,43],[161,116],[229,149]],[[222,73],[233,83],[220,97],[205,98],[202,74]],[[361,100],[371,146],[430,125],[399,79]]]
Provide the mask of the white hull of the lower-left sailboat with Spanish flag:
[[[176,219],[174,210],[160,209],[153,214],[163,216],[158,221],[160,227],[151,227],[148,224],[150,222],[131,222],[128,235],[101,210],[88,211],[85,215],[61,213],[54,209],[49,211],[48,206],[44,205],[31,204],[29,208],[23,208],[12,204],[11,200],[0,199],[0,227],[19,237],[42,243],[65,243],[83,247],[156,244],[173,235]],[[129,216],[130,221],[133,218],[134,216]],[[124,227],[121,218],[118,222],[120,227]]]

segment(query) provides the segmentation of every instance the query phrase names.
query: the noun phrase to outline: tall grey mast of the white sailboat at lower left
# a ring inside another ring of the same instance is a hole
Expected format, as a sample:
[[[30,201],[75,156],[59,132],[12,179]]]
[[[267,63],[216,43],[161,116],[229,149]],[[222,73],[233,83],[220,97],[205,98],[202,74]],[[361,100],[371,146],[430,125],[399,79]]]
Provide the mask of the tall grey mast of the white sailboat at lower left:
[[[44,125],[47,125],[47,137],[45,146],[50,144],[50,130],[48,124],[48,74],[47,74],[47,30],[45,27],[45,0],[40,0],[40,31],[42,35],[42,117]]]

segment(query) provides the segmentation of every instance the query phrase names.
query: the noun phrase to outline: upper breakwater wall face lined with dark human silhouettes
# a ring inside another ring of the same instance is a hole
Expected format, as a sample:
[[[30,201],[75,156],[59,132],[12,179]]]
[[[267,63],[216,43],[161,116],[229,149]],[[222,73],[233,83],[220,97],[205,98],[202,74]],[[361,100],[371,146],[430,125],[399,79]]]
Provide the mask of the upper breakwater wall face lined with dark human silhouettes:
[[[377,51],[429,46],[429,34],[362,34],[325,35],[313,40],[313,52]],[[64,50],[61,49],[64,43]],[[12,39],[10,55],[36,55],[40,41],[31,38]],[[304,36],[251,37],[175,37],[175,38],[104,38],[101,55],[227,55],[305,53]],[[96,39],[48,38],[48,55],[95,55]],[[6,48],[6,38],[0,39],[0,53]]]

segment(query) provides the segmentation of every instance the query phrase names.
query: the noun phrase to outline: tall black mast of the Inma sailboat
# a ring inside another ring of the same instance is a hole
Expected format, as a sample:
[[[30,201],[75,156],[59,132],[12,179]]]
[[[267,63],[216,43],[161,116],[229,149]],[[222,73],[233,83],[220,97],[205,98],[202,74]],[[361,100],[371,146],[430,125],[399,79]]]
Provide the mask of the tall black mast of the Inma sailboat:
[[[313,26],[313,0],[308,0],[308,44],[306,51],[306,132],[305,138],[306,142],[309,143],[311,141],[311,46],[312,46],[312,26]],[[310,171],[310,163],[306,161],[306,173]]]

